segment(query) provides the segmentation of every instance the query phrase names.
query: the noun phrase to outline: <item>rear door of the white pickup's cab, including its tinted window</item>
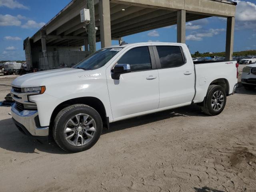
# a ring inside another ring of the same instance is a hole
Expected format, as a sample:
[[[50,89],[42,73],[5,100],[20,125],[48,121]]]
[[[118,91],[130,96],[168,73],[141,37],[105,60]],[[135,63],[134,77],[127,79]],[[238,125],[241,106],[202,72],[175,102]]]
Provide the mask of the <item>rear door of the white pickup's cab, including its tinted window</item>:
[[[154,46],[159,73],[159,108],[182,106],[194,97],[194,65],[181,46]]]

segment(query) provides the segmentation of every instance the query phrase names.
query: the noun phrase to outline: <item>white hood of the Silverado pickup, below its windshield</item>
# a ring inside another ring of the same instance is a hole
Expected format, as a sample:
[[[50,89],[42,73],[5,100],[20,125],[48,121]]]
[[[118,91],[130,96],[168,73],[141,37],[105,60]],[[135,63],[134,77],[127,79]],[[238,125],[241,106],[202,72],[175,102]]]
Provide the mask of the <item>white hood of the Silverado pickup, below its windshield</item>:
[[[42,82],[45,79],[52,78],[52,77],[56,78],[58,76],[65,76],[65,75],[70,75],[70,74],[75,74],[80,72],[89,72],[89,71],[84,71],[82,69],[76,69],[76,68],[61,68],[61,69],[53,69],[53,70],[29,73],[29,74],[17,77],[12,82],[12,86],[15,86],[15,87],[40,86],[40,82]]]

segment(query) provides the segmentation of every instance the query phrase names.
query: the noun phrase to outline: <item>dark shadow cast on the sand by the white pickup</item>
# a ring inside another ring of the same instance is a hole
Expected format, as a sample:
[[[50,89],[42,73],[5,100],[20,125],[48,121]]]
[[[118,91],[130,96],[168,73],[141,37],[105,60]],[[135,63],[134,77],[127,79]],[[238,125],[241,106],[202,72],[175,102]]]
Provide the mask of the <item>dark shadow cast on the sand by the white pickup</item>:
[[[201,112],[200,107],[196,105],[186,106],[183,108],[177,108],[175,110],[167,110],[164,112],[158,112],[128,120],[114,122],[110,124],[110,130],[103,128],[102,134],[107,134],[109,132],[140,126],[142,124],[157,122],[177,116],[188,117],[206,115],[204,115]],[[12,118],[0,120],[0,132],[2,133],[0,148],[5,150],[22,153],[47,152],[52,154],[66,154],[66,152],[60,149],[53,140],[50,141],[49,144],[46,141],[38,141],[22,134],[20,131],[18,131],[18,128],[16,128],[15,124],[12,122]]]

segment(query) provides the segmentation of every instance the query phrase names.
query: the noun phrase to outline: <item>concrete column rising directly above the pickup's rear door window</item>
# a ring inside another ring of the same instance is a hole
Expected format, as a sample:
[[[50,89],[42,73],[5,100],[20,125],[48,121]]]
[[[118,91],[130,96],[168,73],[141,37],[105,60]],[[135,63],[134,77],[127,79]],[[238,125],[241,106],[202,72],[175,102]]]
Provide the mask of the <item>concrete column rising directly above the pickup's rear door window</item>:
[[[186,43],[186,11],[177,11],[177,43]]]

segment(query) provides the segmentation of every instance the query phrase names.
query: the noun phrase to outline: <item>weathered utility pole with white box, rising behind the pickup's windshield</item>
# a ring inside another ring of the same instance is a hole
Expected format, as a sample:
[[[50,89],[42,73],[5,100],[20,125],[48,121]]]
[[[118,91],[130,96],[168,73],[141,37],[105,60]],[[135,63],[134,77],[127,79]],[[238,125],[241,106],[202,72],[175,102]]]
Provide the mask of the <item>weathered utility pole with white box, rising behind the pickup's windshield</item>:
[[[87,6],[90,10],[90,23],[88,24],[88,44],[90,54],[96,51],[96,29],[94,16],[94,0],[87,0]]]

